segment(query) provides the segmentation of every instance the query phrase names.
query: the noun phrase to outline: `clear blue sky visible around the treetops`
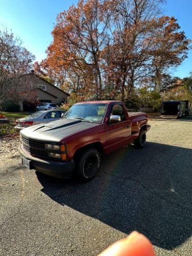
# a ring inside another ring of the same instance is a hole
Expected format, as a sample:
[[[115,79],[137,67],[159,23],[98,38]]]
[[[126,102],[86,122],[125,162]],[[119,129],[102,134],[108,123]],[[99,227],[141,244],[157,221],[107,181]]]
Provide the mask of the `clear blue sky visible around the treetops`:
[[[19,36],[24,46],[32,52],[36,60],[46,57],[56,16],[77,0],[0,0],[0,28],[7,27]],[[175,16],[186,36],[192,39],[192,1],[167,0],[165,14]],[[174,75],[185,77],[192,71],[192,51]]]

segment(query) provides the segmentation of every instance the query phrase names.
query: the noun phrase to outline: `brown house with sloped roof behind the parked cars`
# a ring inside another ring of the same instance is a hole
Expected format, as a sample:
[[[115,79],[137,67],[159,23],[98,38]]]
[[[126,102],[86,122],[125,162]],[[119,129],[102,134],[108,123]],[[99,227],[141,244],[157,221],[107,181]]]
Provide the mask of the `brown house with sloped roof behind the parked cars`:
[[[23,75],[18,85],[20,110],[33,110],[42,102],[63,103],[67,101],[68,93],[54,86],[51,82],[31,73]]]

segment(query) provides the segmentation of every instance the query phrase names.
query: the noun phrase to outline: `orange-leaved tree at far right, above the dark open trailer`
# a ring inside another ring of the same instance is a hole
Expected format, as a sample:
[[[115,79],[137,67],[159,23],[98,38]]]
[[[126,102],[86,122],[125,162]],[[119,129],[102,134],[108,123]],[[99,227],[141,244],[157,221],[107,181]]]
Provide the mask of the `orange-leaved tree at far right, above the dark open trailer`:
[[[153,41],[154,88],[161,90],[163,77],[170,68],[178,67],[187,57],[191,41],[186,38],[184,31],[180,31],[177,19],[168,16],[154,20],[154,36],[150,39]]]

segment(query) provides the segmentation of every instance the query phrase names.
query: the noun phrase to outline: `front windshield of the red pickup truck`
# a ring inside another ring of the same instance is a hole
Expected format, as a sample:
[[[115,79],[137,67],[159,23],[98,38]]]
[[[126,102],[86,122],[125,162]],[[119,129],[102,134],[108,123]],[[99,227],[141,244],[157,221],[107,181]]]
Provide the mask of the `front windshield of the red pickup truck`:
[[[88,103],[73,105],[64,115],[65,118],[79,118],[84,121],[101,123],[104,117],[107,104]]]

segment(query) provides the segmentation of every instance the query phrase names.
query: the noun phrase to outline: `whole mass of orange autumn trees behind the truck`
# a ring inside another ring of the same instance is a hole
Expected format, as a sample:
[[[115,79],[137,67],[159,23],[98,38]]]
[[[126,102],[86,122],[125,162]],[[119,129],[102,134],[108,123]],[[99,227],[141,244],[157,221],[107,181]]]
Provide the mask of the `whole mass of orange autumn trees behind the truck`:
[[[143,80],[159,91],[190,40],[161,0],[80,0],[57,16],[47,58],[34,65],[71,99],[129,100]]]

